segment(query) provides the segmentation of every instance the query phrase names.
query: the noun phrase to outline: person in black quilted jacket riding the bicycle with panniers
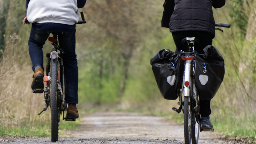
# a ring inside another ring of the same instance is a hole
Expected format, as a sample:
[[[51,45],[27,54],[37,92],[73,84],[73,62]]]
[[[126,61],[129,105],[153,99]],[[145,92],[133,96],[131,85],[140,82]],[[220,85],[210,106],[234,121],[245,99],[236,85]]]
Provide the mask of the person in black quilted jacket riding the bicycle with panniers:
[[[225,0],[165,0],[161,26],[170,28],[176,53],[189,50],[188,45],[181,43],[183,38],[196,37],[200,44],[195,44],[195,50],[203,54],[203,48],[212,45],[215,37],[212,7],[216,9],[224,5]],[[200,100],[201,128],[213,128],[210,102]]]

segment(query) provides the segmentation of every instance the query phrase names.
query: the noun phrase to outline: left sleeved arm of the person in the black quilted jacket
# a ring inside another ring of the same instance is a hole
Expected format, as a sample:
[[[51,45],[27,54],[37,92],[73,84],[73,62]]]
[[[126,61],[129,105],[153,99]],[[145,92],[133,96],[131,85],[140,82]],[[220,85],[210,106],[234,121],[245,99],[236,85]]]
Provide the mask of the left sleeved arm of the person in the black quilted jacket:
[[[174,5],[175,5],[174,0],[165,0],[161,27],[169,28],[169,22],[170,22],[171,15],[174,11]]]

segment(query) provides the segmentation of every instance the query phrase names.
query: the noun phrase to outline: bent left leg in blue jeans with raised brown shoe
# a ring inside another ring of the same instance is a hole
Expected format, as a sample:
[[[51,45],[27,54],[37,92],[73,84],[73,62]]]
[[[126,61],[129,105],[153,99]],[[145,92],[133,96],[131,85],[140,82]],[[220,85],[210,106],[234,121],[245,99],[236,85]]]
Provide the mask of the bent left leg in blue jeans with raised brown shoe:
[[[28,51],[32,61],[32,70],[34,71],[31,88],[43,89],[43,44],[47,40],[48,32],[40,31],[36,25],[32,24],[30,37],[28,40]]]

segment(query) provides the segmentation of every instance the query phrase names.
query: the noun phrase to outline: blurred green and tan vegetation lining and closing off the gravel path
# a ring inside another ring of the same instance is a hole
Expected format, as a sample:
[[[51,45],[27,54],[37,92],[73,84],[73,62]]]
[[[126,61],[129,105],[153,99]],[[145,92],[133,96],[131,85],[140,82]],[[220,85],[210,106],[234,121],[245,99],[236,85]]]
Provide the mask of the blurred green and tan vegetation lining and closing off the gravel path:
[[[76,26],[80,111],[133,110],[182,123],[182,115],[171,110],[178,101],[162,98],[150,65],[160,49],[176,49],[168,28],[160,27],[163,2],[90,0],[80,9],[87,21]],[[211,121],[216,132],[230,139],[256,137],[255,9],[256,0],[226,0],[223,8],[213,10],[215,21],[231,28],[216,31],[213,40],[226,72],[211,102]],[[0,0],[0,135],[49,136],[49,110],[37,116],[43,94],[32,94],[30,88],[31,25],[22,24],[25,13],[25,0]],[[50,48],[46,42],[43,51]]]

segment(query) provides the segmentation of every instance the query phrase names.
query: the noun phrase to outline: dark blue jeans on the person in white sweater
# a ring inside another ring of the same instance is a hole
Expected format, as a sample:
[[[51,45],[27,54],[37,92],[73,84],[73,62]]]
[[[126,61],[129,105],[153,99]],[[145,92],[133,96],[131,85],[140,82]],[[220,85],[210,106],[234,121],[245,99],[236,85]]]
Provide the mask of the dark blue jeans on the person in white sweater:
[[[59,34],[59,47],[64,50],[62,54],[64,65],[65,100],[67,103],[78,103],[78,67],[75,54],[75,29]],[[43,68],[43,45],[48,39],[47,31],[40,31],[37,27],[31,27],[28,40],[28,51],[32,61],[32,70],[40,65]],[[49,48],[49,50],[51,50]]]

